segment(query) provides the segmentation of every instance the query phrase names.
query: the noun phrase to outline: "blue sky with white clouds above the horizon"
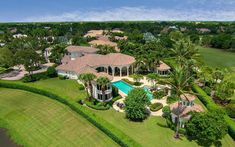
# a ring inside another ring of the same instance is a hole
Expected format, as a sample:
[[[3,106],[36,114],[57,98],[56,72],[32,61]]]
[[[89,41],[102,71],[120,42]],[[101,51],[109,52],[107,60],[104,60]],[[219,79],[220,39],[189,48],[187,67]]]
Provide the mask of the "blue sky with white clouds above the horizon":
[[[0,0],[0,22],[235,21],[235,0]]]

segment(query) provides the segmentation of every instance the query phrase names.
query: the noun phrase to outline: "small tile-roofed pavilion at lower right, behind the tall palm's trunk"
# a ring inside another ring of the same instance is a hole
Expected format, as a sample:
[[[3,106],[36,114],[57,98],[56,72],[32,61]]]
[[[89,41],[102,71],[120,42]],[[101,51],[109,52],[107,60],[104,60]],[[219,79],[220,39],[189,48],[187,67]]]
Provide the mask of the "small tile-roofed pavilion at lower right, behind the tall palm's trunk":
[[[184,127],[185,123],[191,118],[190,112],[203,112],[201,105],[195,104],[197,97],[195,95],[186,93],[180,95],[180,102],[175,102],[170,105],[171,119],[173,123],[178,122],[180,127]],[[180,116],[178,118],[178,115]]]

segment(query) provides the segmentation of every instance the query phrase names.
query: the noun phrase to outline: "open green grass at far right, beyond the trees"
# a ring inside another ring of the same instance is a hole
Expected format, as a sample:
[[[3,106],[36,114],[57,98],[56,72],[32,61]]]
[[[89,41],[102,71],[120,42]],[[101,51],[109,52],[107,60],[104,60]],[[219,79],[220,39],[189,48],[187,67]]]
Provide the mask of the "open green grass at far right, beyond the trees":
[[[234,68],[235,53],[214,48],[198,47],[203,61],[212,67]]]

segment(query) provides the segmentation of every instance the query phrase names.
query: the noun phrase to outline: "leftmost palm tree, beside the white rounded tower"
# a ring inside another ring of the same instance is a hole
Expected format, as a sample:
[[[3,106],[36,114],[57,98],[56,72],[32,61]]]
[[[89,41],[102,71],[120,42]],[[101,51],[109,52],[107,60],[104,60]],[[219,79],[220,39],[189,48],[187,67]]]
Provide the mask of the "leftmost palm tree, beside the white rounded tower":
[[[91,100],[91,95],[92,95],[91,81],[93,81],[95,78],[96,78],[96,75],[94,75],[93,73],[84,73],[78,76],[78,79],[81,80],[86,87],[87,97],[89,101]],[[88,89],[90,90],[90,95],[89,95]]]

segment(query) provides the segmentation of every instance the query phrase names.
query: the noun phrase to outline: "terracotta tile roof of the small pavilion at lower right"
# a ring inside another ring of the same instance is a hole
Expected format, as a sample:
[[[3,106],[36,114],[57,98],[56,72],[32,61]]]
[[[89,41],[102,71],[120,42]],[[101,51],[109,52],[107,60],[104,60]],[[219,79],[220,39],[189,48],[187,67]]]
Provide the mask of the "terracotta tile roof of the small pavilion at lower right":
[[[178,102],[175,102],[170,105],[171,112],[175,115],[180,115],[181,117],[187,117],[189,112],[203,112],[203,108],[201,105],[194,104],[193,106],[183,106],[180,103],[178,108]]]

